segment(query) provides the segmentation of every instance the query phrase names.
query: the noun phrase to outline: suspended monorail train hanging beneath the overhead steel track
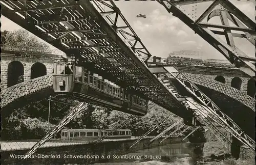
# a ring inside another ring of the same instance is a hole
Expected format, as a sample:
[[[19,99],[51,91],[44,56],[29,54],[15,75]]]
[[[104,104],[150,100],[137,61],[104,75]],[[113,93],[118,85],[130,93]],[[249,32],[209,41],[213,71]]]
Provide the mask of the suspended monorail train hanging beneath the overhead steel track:
[[[96,105],[110,107],[134,115],[147,112],[148,101],[118,87],[88,69],[79,66],[75,59],[54,61],[53,89],[55,93]]]

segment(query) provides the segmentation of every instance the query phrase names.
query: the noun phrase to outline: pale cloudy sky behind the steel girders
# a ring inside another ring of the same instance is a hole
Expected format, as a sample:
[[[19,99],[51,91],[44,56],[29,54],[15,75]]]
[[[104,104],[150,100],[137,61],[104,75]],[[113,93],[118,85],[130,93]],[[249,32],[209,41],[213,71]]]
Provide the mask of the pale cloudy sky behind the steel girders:
[[[255,1],[231,0],[230,2],[253,21],[255,20]],[[172,51],[193,50],[200,51],[204,59],[225,59],[219,51],[195,34],[179,18],[169,14],[159,3],[154,1],[117,1],[115,4],[153,56],[167,58]],[[183,8],[198,18],[210,4],[206,2],[183,6]],[[138,14],[145,14],[146,18],[137,18]],[[4,16],[0,20],[1,31],[14,31],[21,28]],[[212,18],[209,23],[220,23],[220,19]],[[222,39],[224,38],[222,37]],[[247,56],[255,56],[254,46],[246,39],[236,38],[234,42]]]

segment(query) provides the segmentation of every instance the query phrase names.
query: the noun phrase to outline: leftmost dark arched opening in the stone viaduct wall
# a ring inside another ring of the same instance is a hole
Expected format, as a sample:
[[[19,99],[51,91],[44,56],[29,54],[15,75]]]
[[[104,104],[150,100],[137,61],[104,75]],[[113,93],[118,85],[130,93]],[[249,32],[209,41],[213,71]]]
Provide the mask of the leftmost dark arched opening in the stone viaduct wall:
[[[24,81],[24,66],[19,61],[12,61],[7,70],[7,87],[14,86]]]

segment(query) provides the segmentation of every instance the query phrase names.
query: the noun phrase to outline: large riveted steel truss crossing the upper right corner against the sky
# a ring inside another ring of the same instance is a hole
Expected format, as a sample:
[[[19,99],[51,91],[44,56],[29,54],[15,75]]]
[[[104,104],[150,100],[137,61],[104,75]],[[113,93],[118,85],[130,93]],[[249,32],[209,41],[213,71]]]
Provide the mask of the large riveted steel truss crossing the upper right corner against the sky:
[[[210,1],[212,4],[205,9],[199,18],[196,18],[193,14],[188,13],[187,10],[182,8],[182,5],[208,3]],[[234,37],[245,38],[255,46],[255,23],[231,2],[223,0],[199,0],[196,2],[192,0],[157,0],[157,2],[163,5],[169,13],[172,12],[174,16],[187,24],[205,41],[220,51],[231,64],[234,64],[250,77],[255,76],[256,59],[247,56],[242,50],[240,50],[234,43],[233,39]],[[220,17],[222,24],[208,23],[208,21],[215,16]],[[206,17],[207,23],[203,23],[202,21]],[[234,26],[230,25],[229,21],[231,21]],[[209,28],[215,28],[218,30],[211,30]],[[234,33],[232,31],[239,31],[240,33]],[[223,41],[217,35],[225,36],[226,41]]]

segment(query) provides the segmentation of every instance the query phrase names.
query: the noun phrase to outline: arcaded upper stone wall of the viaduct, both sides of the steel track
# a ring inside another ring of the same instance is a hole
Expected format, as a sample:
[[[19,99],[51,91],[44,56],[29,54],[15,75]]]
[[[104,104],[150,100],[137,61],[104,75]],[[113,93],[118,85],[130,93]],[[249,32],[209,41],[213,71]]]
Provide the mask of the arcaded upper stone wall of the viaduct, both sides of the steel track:
[[[6,89],[19,82],[53,73],[53,59],[61,56],[2,48],[1,53],[1,89]],[[255,81],[245,73],[229,64],[188,62],[174,64],[180,71],[215,79],[236,88],[251,97],[255,97]]]

